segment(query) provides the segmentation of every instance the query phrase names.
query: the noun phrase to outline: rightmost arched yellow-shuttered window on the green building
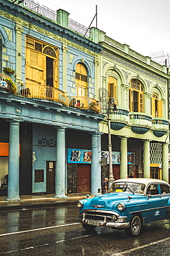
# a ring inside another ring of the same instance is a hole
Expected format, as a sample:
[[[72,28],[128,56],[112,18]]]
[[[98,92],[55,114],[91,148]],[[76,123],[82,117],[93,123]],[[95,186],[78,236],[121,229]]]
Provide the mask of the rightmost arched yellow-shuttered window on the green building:
[[[153,93],[151,98],[151,116],[162,118],[162,100],[158,100],[158,94]]]

